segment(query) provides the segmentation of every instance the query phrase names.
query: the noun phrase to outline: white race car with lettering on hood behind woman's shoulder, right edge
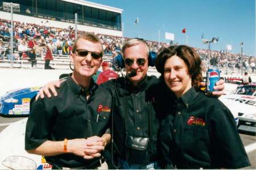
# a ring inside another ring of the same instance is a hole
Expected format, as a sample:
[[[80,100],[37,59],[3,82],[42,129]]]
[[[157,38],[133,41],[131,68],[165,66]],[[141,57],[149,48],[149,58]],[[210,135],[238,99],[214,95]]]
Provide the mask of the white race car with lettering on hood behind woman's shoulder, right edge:
[[[238,115],[238,130],[256,134],[256,85],[238,86],[232,93],[221,96],[220,100]]]

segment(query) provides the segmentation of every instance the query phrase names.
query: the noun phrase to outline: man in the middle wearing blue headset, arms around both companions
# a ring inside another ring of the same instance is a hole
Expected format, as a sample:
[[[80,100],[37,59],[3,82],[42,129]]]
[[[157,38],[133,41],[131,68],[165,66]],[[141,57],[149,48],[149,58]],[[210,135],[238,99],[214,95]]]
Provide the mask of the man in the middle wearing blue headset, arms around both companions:
[[[118,77],[102,84],[112,93],[114,158],[121,169],[159,169],[157,135],[159,119],[155,114],[152,86],[158,82],[155,76],[147,76],[150,48],[142,39],[131,39],[122,47],[126,77]],[[60,82],[52,82],[41,90],[41,97]],[[223,90],[223,81],[216,89]],[[54,85],[54,86],[53,86]],[[222,91],[214,95],[221,95]]]

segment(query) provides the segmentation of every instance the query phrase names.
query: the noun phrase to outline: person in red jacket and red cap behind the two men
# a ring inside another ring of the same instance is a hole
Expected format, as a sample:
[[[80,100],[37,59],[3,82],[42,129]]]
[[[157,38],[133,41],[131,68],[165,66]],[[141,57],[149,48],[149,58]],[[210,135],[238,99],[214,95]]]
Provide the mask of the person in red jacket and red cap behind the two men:
[[[110,70],[108,62],[104,61],[101,64],[101,66],[102,66],[103,72],[101,72],[98,75],[98,78],[97,78],[97,84],[98,85],[102,84],[103,82],[106,82],[108,80],[111,80],[113,78],[117,78],[118,77],[117,73],[115,73],[114,71]]]

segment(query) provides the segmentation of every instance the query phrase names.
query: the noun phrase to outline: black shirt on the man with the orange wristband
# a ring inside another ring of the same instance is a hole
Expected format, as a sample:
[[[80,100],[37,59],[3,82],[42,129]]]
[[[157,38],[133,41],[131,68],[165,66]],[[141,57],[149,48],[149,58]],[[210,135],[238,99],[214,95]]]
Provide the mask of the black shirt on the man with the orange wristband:
[[[46,140],[102,136],[109,127],[111,98],[108,90],[92,80],[89,86],[90,97],[86,99],[86,91],[71,76],[56,90],[56,97],[39,98],[31,102],[26,126],[26,150],[35,149]],[[82,167],[96,161],[73,154],[46,156],[46,160],[60,167]]]

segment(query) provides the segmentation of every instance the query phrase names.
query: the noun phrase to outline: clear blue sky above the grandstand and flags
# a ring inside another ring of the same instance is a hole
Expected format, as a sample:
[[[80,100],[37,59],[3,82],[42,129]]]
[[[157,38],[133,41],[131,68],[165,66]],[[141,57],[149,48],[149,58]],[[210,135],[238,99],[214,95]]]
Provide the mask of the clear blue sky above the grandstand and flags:
[[[89,0],[123,9],[124,36],[158,41],[164,40],[164,32],[175,34],[174,43],[185,44],[183,28],[187,30],[188,45],[208,48],[201,42],[219,37],[211,45],[213,50],[232,45],[234,53],[255,56],[255,0]],[[135,19],[139,17],[139,23]]]

